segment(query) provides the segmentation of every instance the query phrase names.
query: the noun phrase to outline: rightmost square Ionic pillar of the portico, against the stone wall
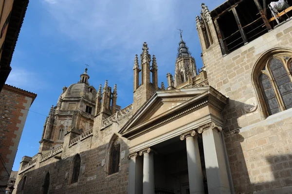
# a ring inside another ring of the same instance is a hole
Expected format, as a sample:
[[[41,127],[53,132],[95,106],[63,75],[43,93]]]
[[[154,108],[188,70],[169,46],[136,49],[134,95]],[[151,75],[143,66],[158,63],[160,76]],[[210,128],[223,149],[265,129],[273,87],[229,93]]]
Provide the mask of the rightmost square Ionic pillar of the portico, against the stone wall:
[[[215,123],[199,127],[202,133],[204,158],[209,194],[230,194],[223,145],[220,138],[222,128]]]

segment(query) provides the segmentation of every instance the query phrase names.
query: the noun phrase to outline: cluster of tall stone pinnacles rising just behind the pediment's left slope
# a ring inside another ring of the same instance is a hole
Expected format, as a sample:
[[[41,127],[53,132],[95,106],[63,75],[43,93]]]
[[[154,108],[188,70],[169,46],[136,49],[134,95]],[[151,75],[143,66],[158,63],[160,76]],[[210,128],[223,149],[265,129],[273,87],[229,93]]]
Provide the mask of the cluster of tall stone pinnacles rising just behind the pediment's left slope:
[[[134,60],[134,102],[133,113],[135,113],[152,95],[158,90],[157,62],[153,55],[152,66],[150,69],[151,55],[148,53],[146,42],[143,44],[141,59],[141,70],[139,68],[138,55]],[[141,84],[139,85],[139,74],[141,72]],[[150,82],[150,73],[152,73],[152,83]]]

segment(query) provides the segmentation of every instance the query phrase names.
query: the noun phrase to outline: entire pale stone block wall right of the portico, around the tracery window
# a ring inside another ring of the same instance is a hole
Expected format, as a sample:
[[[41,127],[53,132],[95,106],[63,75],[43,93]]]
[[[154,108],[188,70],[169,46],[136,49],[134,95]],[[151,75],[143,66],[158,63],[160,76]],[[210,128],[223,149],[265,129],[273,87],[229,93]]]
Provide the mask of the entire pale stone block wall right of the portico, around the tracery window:
[[[222,118],[236,194],[292,191],[292,110],[266,118],[252,81],[263,53],[292,49],[291,25],[283,23],[225,56],[219,43],[203,51],[209,85],[229,97]]]

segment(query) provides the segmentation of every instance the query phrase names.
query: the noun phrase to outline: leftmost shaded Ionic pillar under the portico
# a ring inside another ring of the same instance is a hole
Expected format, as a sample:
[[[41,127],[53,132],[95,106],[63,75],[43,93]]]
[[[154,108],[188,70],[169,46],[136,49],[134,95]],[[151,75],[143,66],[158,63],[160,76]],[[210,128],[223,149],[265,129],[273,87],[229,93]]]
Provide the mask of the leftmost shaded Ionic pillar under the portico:
[[[137,156],[137,152],[128,155],[128,194],[141,194],[143,190],[143,161],[141,157]]]

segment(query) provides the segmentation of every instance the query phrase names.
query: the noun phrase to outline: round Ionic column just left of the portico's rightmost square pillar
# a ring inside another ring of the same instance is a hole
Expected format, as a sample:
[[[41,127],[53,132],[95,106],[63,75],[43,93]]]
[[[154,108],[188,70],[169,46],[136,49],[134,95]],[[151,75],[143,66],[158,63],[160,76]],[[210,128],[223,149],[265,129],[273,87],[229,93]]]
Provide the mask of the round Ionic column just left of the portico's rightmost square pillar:
[[[187,168],[190,194],[204,194],[203,175],[199,152],[198,136],[194,130],[181,135],[186,139]]]

